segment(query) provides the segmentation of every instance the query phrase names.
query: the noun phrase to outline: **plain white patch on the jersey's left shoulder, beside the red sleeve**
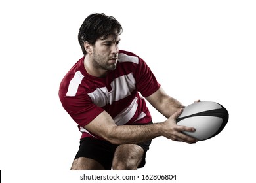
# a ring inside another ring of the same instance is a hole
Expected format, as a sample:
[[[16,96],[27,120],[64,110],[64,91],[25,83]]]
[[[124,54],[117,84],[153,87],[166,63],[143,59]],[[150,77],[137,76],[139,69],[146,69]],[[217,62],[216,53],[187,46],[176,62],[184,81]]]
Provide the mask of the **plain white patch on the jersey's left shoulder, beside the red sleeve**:
[[[68,85],[68,92],[66,93],[66,96],[68,97],[74,97],[79,84],[81,84],[82,80],[83,80],[84,75],[82,75],[82,73],[80,71],[75,72],[74,78],[72,78],[72,80],[70,80],[70,84]]]

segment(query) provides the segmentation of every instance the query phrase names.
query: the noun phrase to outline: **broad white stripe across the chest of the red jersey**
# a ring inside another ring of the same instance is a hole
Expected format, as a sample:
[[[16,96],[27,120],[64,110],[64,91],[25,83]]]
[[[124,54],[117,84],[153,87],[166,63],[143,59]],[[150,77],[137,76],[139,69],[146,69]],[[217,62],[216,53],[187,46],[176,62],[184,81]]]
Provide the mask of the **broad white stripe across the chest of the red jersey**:
[[[114,101],[119,101],[120,99],[124,99],[131,95],[131,92],[135,90],[135,84],[136,82],[133,73],[130,73],[113,80],[110,84],[112,87],[111,91],[108,92],[106,87],[102,87],[88,93],[88,95],[98,107],[103,107],[108,104],[112,105]]]

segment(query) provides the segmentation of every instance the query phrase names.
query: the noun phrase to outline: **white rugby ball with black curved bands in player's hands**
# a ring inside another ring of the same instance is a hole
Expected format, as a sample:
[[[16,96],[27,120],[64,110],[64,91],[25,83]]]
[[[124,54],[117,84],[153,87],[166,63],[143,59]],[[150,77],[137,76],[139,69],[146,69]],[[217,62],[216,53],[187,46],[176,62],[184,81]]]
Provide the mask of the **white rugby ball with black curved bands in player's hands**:
[[[176,119],[177,125],[194,127],[196,131],[182,133],[203,141],[218,135],[228,122],[228,110],[219,103],[201,101],[184,108]]]

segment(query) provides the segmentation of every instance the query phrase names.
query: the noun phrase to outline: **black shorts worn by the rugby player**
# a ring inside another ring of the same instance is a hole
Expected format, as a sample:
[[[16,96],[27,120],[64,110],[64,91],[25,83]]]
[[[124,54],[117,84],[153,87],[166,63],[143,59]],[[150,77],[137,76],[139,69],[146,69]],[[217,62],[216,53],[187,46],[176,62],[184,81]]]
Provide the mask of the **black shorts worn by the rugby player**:
[[[150,144],[151,140],[137,144],[144,150],[144,155],[138,168],[142,168],[146,164],[146,152],[149,150]],[[85,137],[80,140],[79,150],[75,159],[79,157],[95,159],[104,169],[110,170],[117,146],[108,141]]]

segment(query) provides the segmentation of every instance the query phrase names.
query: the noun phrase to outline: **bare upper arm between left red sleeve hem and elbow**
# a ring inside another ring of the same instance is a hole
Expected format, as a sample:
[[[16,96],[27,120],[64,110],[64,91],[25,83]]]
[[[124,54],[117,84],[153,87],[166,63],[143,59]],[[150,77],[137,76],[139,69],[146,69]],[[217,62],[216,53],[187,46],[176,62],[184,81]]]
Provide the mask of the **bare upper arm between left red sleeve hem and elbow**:
[[[109,135],[113,127],[116,127],[114,120],[108,114],[108,112],[103,111],[96,118],[94,118],[89,124],[85,125],[84,128],[92,133],[108,140]]]

